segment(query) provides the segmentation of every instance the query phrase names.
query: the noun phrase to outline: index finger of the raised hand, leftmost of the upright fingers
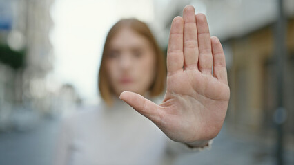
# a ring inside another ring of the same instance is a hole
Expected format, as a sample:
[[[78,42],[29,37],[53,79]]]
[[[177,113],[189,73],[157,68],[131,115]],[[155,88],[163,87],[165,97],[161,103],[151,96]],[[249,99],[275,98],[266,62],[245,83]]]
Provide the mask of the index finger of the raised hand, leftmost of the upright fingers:
[[[168,41],[167,68],[168,74],[183,70],[183,27],[182,17],[175,17],[170,27],[170,39]]]

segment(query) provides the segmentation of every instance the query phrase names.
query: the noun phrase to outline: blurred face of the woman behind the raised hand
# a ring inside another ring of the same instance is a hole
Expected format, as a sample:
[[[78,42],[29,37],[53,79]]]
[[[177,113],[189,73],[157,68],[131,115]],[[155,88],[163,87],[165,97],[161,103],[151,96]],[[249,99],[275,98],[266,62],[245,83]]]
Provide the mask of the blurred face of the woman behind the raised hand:
[[[144,95],[155,78],[155,51],[144,36],[122,28],[110,41],[106,69],[115,94]]]

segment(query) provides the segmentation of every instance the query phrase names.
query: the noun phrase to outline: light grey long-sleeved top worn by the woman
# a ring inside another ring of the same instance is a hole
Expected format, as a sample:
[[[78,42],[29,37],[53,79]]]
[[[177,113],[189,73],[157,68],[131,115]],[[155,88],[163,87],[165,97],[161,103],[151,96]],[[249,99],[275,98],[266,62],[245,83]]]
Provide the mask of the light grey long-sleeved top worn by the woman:
[[[53,163],[170,164],[167,148],[187,147],[171,142],[153,122],[115,99],[112,107],[101,103],[63,120]]]

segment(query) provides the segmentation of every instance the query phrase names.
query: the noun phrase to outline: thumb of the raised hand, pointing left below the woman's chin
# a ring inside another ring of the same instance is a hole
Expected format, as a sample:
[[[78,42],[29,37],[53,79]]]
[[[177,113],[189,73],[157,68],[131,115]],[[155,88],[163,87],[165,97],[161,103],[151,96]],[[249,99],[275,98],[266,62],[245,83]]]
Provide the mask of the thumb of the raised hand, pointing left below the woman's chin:
[[[131,91],[122,92],[119,98],[151,121],[155,123],[160,121],[161,115],[159,114],[159,106],[152,101]]]

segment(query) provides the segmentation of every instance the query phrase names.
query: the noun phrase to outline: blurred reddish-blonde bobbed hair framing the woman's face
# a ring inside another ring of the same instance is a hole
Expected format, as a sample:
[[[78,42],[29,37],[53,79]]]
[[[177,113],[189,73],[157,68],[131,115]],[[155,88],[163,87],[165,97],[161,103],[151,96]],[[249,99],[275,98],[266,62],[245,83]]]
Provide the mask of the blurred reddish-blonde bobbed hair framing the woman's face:
[[[130,28],[134,32],[137,32],[137,34],[144,36],[146,39],[148,39],[148,41],[150,42],[151,46],[155,51],[157,72],[155,75],[155,80],[149,89],[150,96],[159,96],[162,93],[162,91],[164,91],[164,86],[166,82],[166,65],[164,61],[163,52],[161,51],[159,45],[157,44],[157,41],[155,40],[150,29],[148,28],[148,25],[137,19],[121,19],[120,21],[115,23],[115,25],[112,26],[112,28],[108,32],[108,35],[106,36],[98,76],[100,95],[106,102],[106,104],[108,104],[109,106],[112,105],[112,96],[114,92],[111,89],[109,78],[106,72],[106,57],[110,50],[110,41],[122,28]]]

